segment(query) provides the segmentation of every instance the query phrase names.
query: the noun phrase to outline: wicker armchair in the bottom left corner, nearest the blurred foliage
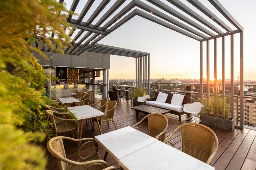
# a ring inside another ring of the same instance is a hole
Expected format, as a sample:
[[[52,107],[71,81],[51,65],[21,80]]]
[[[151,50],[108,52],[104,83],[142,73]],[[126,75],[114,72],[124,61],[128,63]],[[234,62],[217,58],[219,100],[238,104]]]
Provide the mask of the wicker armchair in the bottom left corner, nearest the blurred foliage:
[[[62,139],[77,141],[77,142],[86,141],[85,143],[83,143],[83,145],[79,148],[79,151],[78,151],[78,156],[80,160],[72,161],[67,159]],[[86,158],[82,158],[80,152],[82,147],[87,143],[94,144],[94,146],[96,147],[96,153],[94,153],[93,155],[87,156]],[[98,152],[98,144],[92,138],[73,139],[73,138],[64,137],[64,136],[57,136],[57,137],[51,138],[47,142],[47,149],[52,156],[57,158],[60,170],[64,170],[64,169],[101,170],[104,168],[106,168],[105,170],[117,169],[116,167],[108,167],[108,163],[100,159],[100,154]]]

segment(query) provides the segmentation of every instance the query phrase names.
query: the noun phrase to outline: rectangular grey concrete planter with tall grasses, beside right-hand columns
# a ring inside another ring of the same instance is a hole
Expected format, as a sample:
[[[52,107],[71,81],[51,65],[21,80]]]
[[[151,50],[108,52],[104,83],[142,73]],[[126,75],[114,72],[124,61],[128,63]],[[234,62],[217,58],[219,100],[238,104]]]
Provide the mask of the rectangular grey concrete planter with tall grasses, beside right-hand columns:
[[[235,119],[230,116],[230,102],[218,97],[202,101],[205,107],[201,114],[201,123],[233,131]]]

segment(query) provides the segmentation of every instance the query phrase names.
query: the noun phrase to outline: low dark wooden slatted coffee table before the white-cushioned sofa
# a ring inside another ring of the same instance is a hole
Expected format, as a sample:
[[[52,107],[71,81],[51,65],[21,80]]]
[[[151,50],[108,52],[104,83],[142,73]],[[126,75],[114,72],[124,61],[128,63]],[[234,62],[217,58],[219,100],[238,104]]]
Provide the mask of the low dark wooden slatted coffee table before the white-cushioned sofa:
[[[135,106],[135,107],[131,107],[131,109],[134,109],[136,111],[136,116],[137,117],[139,115],[139,112],[144,113],[144,114],[151,114],[151,113],[165,114],[165,113],[170,112],[170,110],[156,108],[156,107],[148,106],[148,105]]]

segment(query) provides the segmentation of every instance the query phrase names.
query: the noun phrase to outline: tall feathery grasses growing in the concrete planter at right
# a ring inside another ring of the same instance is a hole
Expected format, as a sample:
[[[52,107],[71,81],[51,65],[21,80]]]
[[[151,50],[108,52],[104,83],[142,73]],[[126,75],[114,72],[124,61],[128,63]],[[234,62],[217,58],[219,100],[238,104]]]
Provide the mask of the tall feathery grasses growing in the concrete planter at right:
[[[228,119],[230,116],[230,102],[215,97],[202,100],[202,104],[205,107],[202,114],[223,119]]]

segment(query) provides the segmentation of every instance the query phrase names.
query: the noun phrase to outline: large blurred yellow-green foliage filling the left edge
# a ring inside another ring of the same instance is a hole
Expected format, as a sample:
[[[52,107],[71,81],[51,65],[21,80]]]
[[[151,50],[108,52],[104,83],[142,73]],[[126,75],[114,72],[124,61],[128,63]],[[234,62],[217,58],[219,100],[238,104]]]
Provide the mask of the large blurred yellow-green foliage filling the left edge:
[[[0,2],[0,169],[45,168],[45,149],[36,143],[45,139],[49,126],[42,96],[47,78],[31,52],[47,56],[31,44],[47,42],[63,53],[62,43],[70,45],[65,12],[55,0]]]

